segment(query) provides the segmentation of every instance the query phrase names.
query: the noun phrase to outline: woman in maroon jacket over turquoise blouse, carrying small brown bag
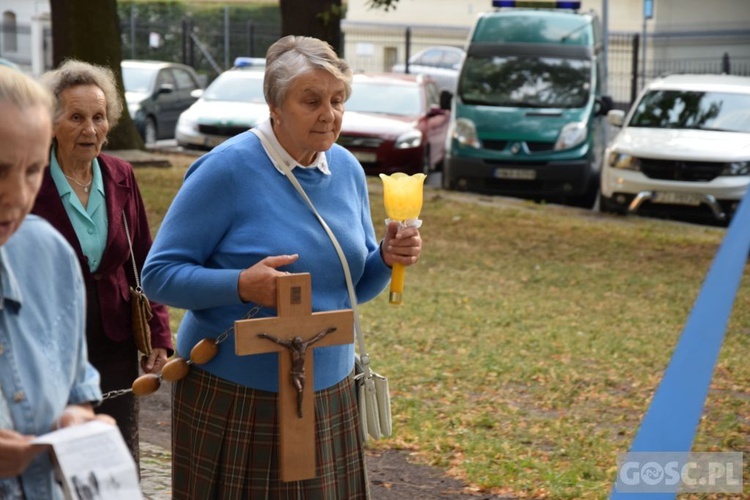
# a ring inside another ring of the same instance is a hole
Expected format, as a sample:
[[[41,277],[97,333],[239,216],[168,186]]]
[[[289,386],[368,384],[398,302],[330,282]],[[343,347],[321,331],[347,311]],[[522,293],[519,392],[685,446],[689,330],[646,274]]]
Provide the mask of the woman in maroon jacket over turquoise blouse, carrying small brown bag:
[[[151,232],[141,193],[129,163],[103,154],[109,130],[122,114],[109,69],[69,60],[42,75],[55,98],[50,168],[44,174],[33,213],[47,219],[73,246],[86,285],[89,360],[105,392],[130,388],[138,378],[138,351],[131,328],[129,287],[135,287],[133,258],[142,269]],[[166,307],[151,304],[153,351],[141,367],[158,373],[172,353]],[[115,417],[136,464],[138,402],[132,393],[96,409]]]

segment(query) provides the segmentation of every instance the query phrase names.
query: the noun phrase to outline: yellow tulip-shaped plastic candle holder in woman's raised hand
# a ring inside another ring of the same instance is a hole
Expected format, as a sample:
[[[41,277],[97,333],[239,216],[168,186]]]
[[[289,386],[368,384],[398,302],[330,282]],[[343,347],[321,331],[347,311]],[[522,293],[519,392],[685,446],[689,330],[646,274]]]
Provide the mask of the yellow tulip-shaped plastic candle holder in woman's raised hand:
[[[422,210],[422,191],[426,177],[425,174],[406,175],[403,172],[380,174],[380,178],[383,179],[385,213],[389,219],[404,226],[414,225]],[[406,268],[403,264],[393,264],[388,298],[391,304],[401,304],[405,275]]]

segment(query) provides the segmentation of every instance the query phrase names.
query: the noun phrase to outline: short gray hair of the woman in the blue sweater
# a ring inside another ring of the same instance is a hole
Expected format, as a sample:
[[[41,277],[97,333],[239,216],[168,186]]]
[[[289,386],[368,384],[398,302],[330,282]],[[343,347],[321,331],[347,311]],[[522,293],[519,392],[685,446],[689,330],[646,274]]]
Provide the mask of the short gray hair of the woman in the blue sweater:
[[[279,107],[286,93],[300,75],[322,69],[341,80],[346,88],[345,99],[352,93],[352,70],[322,40],[289,35],[269,47],[266,53],[266,74],[263,95],[270,106]]]

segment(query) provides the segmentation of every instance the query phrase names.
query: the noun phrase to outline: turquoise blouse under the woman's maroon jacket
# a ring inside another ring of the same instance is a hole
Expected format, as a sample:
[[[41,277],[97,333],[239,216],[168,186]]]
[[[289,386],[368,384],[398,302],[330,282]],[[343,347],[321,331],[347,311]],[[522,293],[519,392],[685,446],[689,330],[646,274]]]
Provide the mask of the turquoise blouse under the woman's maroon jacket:
[[[54,148],[50,155],[49,168],[52,180],[55,181],[55,186],[57,186],[57,192],[60,193],[65,212],[67,212],[76,236],[78,236],[83,255],[88,259],[89,270],[93,273],[99,268],[104,247],[107,244],[107,206],[104,201],[104,182],[102,181],[99,162],[94,158],[92,163],[94,179],[91,183],[89,203],[86,208],[83,207],[81,200],[70,187],[70,182],[68,182],[60,164],[57,162]]]

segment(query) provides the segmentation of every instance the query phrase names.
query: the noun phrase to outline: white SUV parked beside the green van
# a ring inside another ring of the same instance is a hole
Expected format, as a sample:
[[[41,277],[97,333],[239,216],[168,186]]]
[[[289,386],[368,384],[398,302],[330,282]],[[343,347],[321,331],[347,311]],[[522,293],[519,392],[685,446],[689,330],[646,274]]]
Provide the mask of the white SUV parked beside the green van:
[[[649,84],[606,149],[600,209],[727,223],[750,184],[750,78],[671,75]]]

